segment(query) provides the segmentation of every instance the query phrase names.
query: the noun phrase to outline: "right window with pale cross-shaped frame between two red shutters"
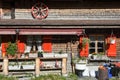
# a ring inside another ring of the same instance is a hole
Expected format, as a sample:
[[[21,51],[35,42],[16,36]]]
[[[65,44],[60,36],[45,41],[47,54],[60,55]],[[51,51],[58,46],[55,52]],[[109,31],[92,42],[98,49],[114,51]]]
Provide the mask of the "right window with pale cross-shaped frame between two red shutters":
[[[104,52],[104,36],[103,35],[90,35],[90,48],[89,53]]]

